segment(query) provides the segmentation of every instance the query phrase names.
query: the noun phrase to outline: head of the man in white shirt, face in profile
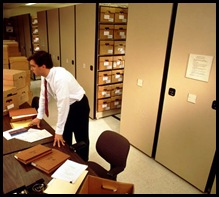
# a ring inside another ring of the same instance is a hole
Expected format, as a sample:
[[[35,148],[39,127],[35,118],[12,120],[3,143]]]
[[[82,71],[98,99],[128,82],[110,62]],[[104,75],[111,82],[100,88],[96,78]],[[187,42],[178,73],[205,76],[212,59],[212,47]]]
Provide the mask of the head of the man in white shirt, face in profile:
[[[51,55],[46,51],[37,51],[27,58],[30,69],[36,76],[46,77],[49,69],[53,67]]]

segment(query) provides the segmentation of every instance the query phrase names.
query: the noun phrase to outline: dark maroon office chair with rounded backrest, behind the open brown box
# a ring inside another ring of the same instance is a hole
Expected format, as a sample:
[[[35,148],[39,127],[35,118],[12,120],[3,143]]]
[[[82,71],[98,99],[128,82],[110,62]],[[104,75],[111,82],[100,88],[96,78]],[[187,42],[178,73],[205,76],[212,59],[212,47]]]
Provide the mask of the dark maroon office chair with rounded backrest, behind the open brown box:
[[[103,131],[97,139],[96,150],[110,164],[109,170],[94,161],[88,161],[87,165],[99,177],[116,181],[117,175],[126,167],[129,149],[130,143],[124,136],[110,130]]]

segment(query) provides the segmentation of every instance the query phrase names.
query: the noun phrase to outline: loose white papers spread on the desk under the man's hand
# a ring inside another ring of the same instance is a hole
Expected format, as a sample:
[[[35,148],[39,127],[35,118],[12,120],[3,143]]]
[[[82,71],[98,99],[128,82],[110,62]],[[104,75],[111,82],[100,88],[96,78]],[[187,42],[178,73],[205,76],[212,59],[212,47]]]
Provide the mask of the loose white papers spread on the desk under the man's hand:
[[[40,130],[40,129],[32,129],[32,128],[29,128],[29,129],[27,128],[28,129],[27,132],[20,132],[20,133],[17,133],[17,135],[11,135],[10,134],[12,131],[16,131],[16,130],[19,130],[21,128],[24,128],[24,127],[4,131],[3,132],[3,137],[7,140],[16,138],[16,139],[23,140],[23,141],[31,143],[31,142],[35,142],[35,141],[38,141],[38,140],[41,140],[41,139],[52,136],[52,134],[49,133],[46,129]]]

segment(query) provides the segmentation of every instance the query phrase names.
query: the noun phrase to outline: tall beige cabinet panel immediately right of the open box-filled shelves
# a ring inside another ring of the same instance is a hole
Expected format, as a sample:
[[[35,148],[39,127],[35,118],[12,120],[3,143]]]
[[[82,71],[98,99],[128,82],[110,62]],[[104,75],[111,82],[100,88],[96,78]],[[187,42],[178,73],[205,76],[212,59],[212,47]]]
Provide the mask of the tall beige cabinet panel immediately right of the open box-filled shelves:
[[[130,3],[120,133],[152,155],[172,3]],[[159,14],[158,14],[159,13]]]

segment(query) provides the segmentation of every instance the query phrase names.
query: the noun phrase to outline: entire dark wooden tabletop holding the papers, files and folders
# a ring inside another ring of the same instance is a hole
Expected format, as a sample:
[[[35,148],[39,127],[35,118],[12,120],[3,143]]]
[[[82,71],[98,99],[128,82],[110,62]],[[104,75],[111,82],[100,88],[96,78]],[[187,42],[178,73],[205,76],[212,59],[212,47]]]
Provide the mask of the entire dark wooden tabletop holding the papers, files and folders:
[[[27,106],[27,105],[24,105]],[[23,106],[21,106],[23,107]],[[10,119],[7,116],[3,118],[4,128],[3,130],[9,130]],[[54,135],[54,129],[46,123],[45,120],[42,121],[42,129],[48,130],[50,133]],[[34,143],[28,143],[21,140],[11,139],[6,140],[3,139],[3,193],[6,194],[14,189],[22,187],[23,185],[30,185],[35,181],[43,178],[45,183],[47,184],[52,178],[51,174],[46,174],[43,171],[38,170],[32,165],[25,165],[19,162],[14,158],[15,153],[20,150],[32,147],[36,144],[43,144],[45,146],[55,148],[61,150],[70,155],[70,160],[86,164],[84,160],[75,152],[73,152],[69,146],[66,144],[65,146],[61,146],[60,148],[55,146],[53,147],[53,137],[49,137],[44,140],[39,140]],[[88,174],[96,175],[95,172],[88,167]],[[60,186],[61,187],[61,186]]]

